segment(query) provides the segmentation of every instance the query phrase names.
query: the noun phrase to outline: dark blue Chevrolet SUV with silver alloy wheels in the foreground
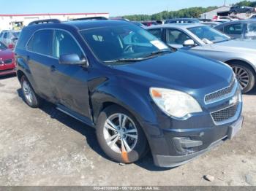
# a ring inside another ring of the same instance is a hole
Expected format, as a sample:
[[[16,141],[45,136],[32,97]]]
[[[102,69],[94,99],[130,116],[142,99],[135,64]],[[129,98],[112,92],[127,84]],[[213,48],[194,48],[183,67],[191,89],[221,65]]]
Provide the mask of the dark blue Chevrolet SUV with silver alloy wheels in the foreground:
[[[31,23],[15,53],[26,103],[44,98],[96,128],[99,146],[119,163],[150,148],[156,165],[181,165],[242,125],[229,66],[172,51],[129,22]]]

